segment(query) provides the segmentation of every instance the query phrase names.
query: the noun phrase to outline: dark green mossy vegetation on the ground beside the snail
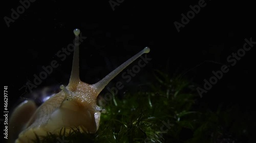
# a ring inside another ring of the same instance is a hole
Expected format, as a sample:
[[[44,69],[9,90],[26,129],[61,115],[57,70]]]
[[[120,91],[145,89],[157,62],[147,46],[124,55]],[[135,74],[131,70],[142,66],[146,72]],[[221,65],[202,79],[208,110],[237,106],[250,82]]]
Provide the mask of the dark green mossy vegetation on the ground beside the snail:
[[[66,142],[248,142],[248,113],[236,106],[217,111],[200,108],[195,85],[166,73],[155,71],[154,84],[136,94],[113,98],[101,114],[95,134],[78,129],[65,136]],[[140,88],[138,88],[140,89]],[[241,114],[237,118],[236,114]],[[63,134],[48,134],[40,141],[63,139]],[[60,142],[60,141],[59,141]],[[64,141],[65,142],[65,141]]]

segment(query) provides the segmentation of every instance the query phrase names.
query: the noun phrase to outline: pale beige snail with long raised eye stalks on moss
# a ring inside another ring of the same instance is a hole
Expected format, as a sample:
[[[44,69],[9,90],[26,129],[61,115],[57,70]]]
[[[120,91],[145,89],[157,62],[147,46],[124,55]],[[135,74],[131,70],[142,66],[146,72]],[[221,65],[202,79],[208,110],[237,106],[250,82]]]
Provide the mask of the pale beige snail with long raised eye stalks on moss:
[[[74,34],[76,41],[79,41],[80,30],[75,29]],[[60,85],[61,91],[52,95],[38,108],[32,100],[26,100],[13,110],[10,127],[15,142],[30,142],[36,135],[57,133],[61,128],[65,128],[66,132],[79,128],[81,132],[95,133],[99,128],[102,112],[101,107],[96,104],[97,96],[124,68],[148,52],[150,48],[145,47],[97,83],[88,84],[79,78],[79,46],[75,43],[68,85]]]

